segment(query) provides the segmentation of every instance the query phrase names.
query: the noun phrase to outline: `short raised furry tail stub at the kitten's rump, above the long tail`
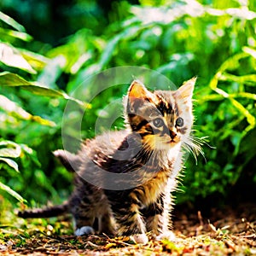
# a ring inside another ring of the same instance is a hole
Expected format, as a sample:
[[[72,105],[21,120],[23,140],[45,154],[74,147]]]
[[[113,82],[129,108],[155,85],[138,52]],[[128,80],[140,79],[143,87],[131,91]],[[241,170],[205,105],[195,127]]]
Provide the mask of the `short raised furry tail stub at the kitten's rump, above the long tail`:
[[[72,154],[66,150],[55,150],[55,157],[61,161],[61,164],[67,169],[69,172],[77,172],[79,170],[79,166],[81,165],[81,160],[78,154]]]

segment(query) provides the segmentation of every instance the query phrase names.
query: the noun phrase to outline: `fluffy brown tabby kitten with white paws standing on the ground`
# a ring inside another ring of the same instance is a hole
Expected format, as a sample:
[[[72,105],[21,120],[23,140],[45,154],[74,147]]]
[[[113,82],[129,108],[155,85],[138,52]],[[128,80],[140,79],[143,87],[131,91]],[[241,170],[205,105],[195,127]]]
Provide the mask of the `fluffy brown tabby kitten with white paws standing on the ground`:
[[[68,170],[78,171],[69,199],[61,206],[26,210],[19,216],[70,212],[76,236],[106,233],[146,243],[150,231],[173,240],[172,191],[183,166],[183,149],[200,149],[189,135],[194,85],[195,79],[190,79],[178,90],[150,92],[133,81],[124,101],[124,131],[86,140],[78,154],[55,151]]]

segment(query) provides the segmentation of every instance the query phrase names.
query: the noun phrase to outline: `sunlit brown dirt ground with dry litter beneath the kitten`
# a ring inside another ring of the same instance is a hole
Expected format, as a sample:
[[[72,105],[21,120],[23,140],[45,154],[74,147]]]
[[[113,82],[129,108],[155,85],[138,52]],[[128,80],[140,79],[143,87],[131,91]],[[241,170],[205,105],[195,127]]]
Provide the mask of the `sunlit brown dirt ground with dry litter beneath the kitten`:
[[[184,212],[173,212],[177,241],[146,245],[132,244],[129,237],[75,237],[63,232],[71,228],[66,220],[2,225],[0,255],[256,255],[256,204],[212,208],[208,216]]]

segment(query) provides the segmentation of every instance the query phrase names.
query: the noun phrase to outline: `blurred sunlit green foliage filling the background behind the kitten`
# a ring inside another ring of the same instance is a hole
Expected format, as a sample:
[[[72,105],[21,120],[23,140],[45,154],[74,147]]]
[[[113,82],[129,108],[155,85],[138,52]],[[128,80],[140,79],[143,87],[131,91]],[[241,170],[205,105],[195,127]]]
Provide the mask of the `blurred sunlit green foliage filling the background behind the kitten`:
[[[208,145],[205,159],[186,162],[177,204],[255,201],[255,1],[2,0],[0,11],[0,209],[67,198],[73,175],[51,153],[62,148],[67,95],[88,76],[125,65],[178,86],[198,77],[195,136]],[[84,138],[126,90],[113,87],[91,104]]]

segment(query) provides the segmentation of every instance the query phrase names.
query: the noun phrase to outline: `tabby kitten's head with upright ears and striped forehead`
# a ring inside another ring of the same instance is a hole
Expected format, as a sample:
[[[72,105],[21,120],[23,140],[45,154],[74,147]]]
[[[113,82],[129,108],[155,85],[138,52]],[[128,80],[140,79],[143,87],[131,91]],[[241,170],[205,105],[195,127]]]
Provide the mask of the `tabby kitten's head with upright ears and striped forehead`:
[[[192,95],[195,79],[177,90],[150,92],[139,81],[128,90],[126,114],[131,130],[150,149],[170,149],[189,140],[193,124]]]

